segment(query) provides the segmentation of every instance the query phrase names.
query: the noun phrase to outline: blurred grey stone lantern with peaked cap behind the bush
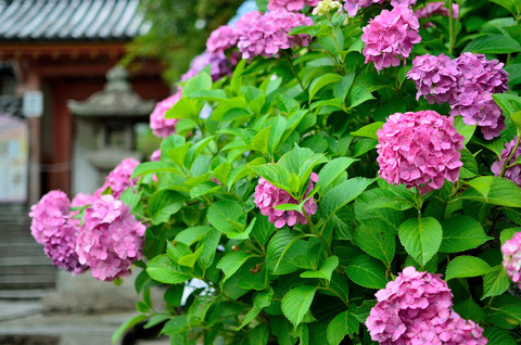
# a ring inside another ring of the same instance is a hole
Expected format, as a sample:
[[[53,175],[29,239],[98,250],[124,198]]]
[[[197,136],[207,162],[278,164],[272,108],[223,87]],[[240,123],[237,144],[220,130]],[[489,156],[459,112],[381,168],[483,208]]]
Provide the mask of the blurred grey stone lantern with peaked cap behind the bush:
[[[123,67],[110,69],[106,79],[103,90],[86,101],[67,101],[68,110],[77,119],[74,192],[92,192],[126,157],[142,158],[136,151],[135,125],[149,122],[155,101],[144,101],[134,92]],[[93,170],[98,178],[91,178],[89,173]]]

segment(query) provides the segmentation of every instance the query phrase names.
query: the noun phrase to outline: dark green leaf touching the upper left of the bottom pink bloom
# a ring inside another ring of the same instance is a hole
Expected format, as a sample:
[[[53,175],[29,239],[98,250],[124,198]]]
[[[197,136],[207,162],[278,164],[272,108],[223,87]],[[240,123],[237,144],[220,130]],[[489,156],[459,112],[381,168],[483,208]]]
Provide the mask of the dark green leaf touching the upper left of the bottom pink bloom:
[[[385,266],[382,261],[369,256],[357,256],[345,269],[347,277],[356,284],[369,289],[383,289],[385,280]]]

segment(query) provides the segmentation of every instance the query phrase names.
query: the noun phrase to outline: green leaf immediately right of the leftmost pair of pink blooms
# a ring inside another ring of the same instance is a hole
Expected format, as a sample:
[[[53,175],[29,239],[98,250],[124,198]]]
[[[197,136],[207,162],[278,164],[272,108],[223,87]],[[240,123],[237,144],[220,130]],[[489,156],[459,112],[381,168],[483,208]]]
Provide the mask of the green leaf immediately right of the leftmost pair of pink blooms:
[[[178,192],[161,190],[156,191],[149,200],[149,213],[153,225],[168,222],[185,205],[185,196]]]

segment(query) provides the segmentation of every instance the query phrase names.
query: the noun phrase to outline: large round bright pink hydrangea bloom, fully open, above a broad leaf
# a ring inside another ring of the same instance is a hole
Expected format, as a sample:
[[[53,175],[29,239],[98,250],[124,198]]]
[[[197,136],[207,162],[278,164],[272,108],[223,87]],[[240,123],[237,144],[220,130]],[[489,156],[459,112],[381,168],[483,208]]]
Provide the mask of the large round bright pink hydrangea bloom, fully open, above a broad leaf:
[[[434,111],[393,114],[378,132],[378,174],[391,184],[416,187],[424,194],[456,182],[463,137],[454,118]]]

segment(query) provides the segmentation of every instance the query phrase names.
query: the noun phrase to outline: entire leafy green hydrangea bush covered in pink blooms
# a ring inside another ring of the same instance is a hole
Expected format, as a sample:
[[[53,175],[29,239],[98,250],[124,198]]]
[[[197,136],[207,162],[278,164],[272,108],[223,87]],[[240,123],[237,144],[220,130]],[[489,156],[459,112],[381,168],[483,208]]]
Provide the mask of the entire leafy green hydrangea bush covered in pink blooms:
[[[157,104],[151,162],[34,206],[46,253],[134,261],[114,342],[518,344],[521,3],[257,3]]]

